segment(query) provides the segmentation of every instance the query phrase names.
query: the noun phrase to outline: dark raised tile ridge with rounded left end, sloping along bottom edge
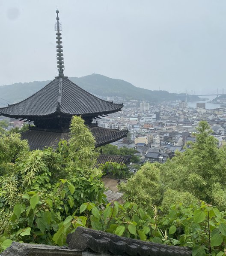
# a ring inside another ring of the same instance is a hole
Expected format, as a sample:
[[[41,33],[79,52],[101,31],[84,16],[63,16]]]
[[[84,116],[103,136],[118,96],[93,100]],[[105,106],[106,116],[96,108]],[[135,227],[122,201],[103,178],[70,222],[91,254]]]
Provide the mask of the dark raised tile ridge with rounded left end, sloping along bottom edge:
[[[71,249],[107,253],[107,255],[179,256],[192,254],[187,247],[123,238],[118,235],[83,227],[77,227],[74,233],[68,234],[66,242]]]

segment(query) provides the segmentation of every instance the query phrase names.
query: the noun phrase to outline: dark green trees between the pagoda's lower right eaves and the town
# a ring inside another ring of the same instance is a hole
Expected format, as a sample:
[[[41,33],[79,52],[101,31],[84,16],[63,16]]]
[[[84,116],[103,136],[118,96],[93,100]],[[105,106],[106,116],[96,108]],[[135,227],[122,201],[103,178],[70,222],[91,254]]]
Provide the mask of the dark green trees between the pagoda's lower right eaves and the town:
[[[136,149],[128,149],[125,146],[118,149],[117,146],[108,144],[105,146],[101,146],[101,151],[103,154],[106,154],[106,155],[131,155],[132,163],[140,162],[140,157],[135,155],[137,153]]]

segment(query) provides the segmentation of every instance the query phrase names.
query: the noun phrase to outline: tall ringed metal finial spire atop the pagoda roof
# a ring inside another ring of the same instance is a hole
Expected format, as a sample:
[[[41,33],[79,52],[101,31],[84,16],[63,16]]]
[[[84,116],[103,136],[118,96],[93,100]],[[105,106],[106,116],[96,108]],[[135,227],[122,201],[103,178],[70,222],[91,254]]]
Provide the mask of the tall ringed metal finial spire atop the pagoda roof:
[[[59,76],[64,76],[64,58],[63,58],[63,46],[62,44],[62,37],[61,37],[61,33],[59,31],[62,31],[62,25],[59,22],[59,17],[58,17],[58,9],[56,7],[56,23],[55,23],[55,31],[56,31],[56,59],[57,59],[57,68],[58,68],[58,72],[59,72]]]

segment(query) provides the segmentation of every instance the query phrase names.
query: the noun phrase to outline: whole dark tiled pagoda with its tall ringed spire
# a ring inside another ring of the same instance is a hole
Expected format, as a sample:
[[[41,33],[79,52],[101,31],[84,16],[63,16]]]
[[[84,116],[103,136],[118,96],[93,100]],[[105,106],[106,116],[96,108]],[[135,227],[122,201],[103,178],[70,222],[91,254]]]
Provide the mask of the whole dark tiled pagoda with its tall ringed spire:
[[[59,10],[56,10],[56,59],[58,76],[44,88],[16,104],[0,108],[0,115],[35,125],[21,133],[22,140],[28,140],[30,149],[57,147],[59,140],[69,139],[69,126],[72,116],[81,116],[95,137],[95,146],[103,146],[126,136],[128,131],[98,127],[98,118],[121,111],[123,104],[104,101],[64,76],[64,58],[62,49],[62,26],[59,22]],[[102,155],[103,158],[103,155]],[[109,158],[109,156],[108,156]],[[104,159],[101,160],[103,162]],[[122,158],[121,158],[121,162]]]

